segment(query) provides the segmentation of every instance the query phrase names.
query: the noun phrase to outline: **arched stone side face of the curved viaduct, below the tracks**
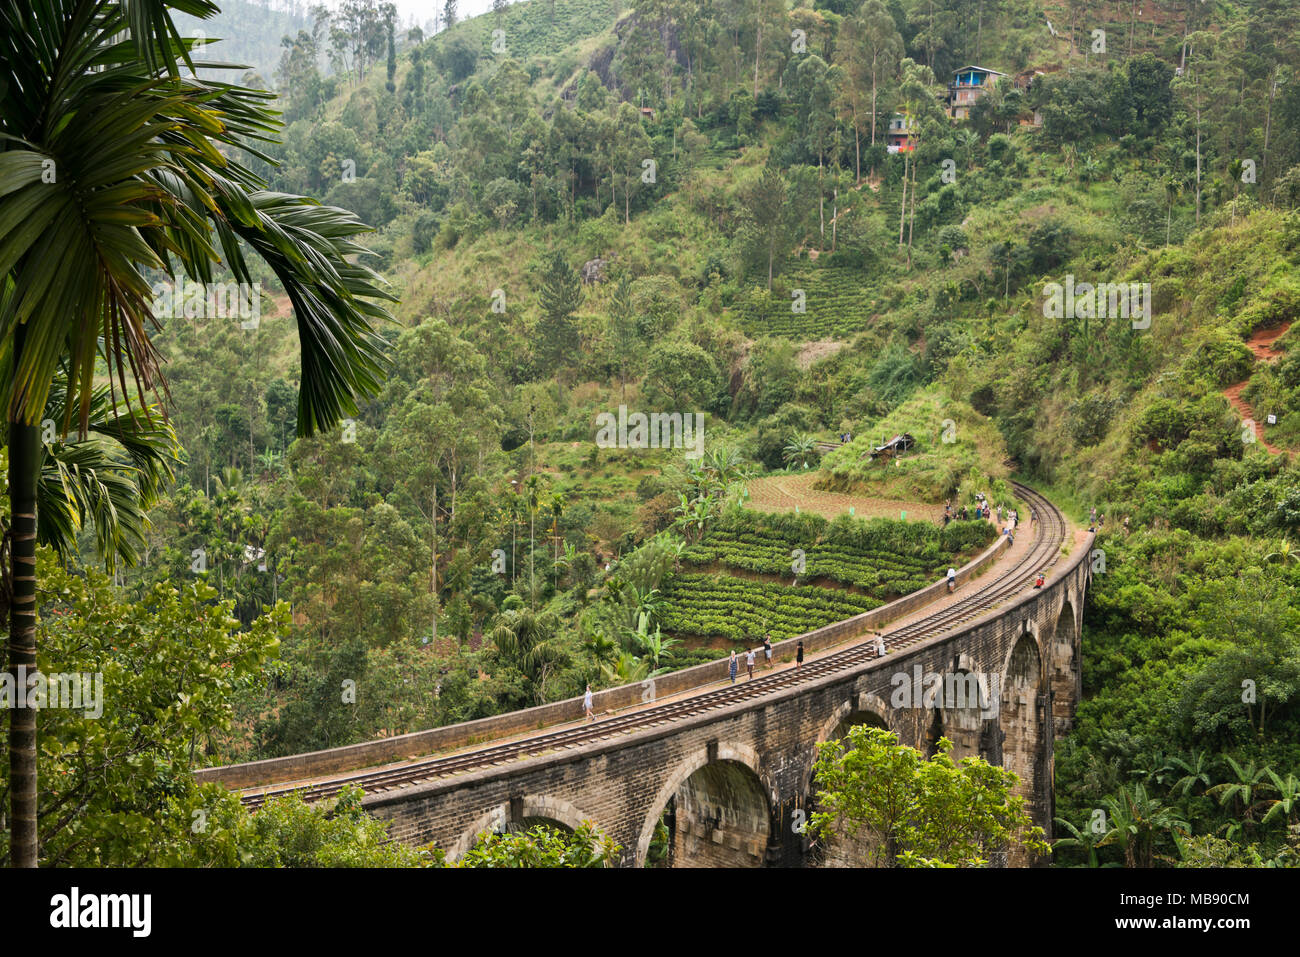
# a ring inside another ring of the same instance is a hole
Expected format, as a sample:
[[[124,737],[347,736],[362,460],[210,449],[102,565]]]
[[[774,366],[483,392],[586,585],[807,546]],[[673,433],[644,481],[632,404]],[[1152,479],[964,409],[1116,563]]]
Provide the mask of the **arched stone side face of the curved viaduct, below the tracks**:
[[[1040,501],[1040,512],[1052,508]],[[391,822],[395,839],[433,843],[452,857],[486,830],[533,820],[572,828],[592,820],[621,845],[621,863],[640,866],[668,810],[675,866],[802,866],[809,863],[809,843],[796,826],[814,800],[816,744],[867,722],[924,753],[946,736],[954,759],[978,754],[1013,770],[1019,776],[1015,793],[1050,835],[1053,741],[1069,729],[1079,700],[1079,636],[1092,547],[1087,536],[1060,558],[1066,534],[1063,521],[1056,542],[1040,532],[1040,557],[991,581],[976,580],[985,590],[1011,583],[996,607],[936,628],[897,651],[890,648],[883,658],[838,667],[815,659],[800,675],[762,674],[745,696],[738,694],[745,681],[724,684],[642,710],[636,722],[597,722],[580,737],[558,736],[540,752],[503,752],[494,761],[489,748],[485,758],[446,776],[421,779],[412,766],[404,781],[368,791],[364,806]],[[1032,573],[1049,562],[1056,567],[1046,585],[1034,589]],[[948,689],[937,700],[924,693],[936,680],[930,675]],[[983,701],[954,697],[954,690],[959,694],[980,680],[988,689]],[[770,689],[759,693],[760,681]],[[905,685],[911,700],[904,697]],[[601,733],[606,724],[608,733]],[[222,774],[239,767],[200,775],[244,787],[247,778]],[[364,776],[358,780],[368,787]]]

